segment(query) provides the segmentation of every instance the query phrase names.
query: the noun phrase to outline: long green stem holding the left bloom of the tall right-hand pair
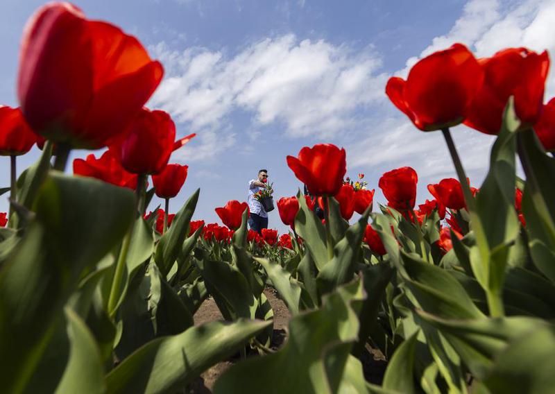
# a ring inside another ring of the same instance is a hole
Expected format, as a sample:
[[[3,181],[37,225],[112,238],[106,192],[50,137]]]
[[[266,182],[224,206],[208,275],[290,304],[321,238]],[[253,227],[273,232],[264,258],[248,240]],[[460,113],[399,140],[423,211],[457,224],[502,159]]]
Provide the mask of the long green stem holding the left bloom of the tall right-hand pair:
[[[485,278],[485,280],[479,280],[482,288],[486,293],[486,299],[488,301],[488,309],[490,311],[490,316],[492,317],[501,317],[504,316],[504,305],[502,295],[498,293],[493,293],[491,289],[488,287],[488,278],[490,276],[490,247],[488,245],[488,238],[486,237],[486,231],[481,224],[480,216],[477,212],[476,207],[476,200],[472,196],[472,191],[470,191],[470,185],[468,185],[468,181],[466,180],[466,173],[463,169],[463,164],[461,163],[461,158],[459,157],[459,153],[456,151],[455,144],[451,137],[451,132],[448,128],[443,128],[441,130],[443,132],[443,137],[445,137],[445,142],[447,144],[447,148],[449,148],[449,153],[451,154],[451,158],[453,160],[453,164],[455,166],[456,175],[459,177],[459,182],[461,182],[461,189],[463,189],[463,196],[466,202],[466,207],[470,214],[470,226],[475,233],[476,243],[479,250],[479,257],[480,257],[480,268],[482,270],[481,273],[476,272],[478,269],[474,265],[472,266],[472,270],[475,271],[476,277]]]

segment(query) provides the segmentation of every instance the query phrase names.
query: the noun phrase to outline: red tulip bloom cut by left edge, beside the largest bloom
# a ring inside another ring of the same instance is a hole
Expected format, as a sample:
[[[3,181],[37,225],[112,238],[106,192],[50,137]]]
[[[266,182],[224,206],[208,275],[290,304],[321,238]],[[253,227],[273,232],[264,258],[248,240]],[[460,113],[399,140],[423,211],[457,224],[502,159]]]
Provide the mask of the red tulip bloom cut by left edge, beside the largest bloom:
[[[0,155],[24,155],[31,151],[37,139],[19,108],[0,105]]]

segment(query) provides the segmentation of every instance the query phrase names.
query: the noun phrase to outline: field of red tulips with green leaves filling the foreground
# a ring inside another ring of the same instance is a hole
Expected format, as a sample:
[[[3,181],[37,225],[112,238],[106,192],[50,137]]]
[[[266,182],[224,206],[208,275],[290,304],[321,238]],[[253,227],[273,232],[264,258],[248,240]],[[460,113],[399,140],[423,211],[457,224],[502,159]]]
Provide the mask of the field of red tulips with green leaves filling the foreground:
[[[237,200],[205,223],[200,189],[168,212],[188,171],[171,155],[195,135],[144,107],[163,65],[117,26],[43,6],[22,37],[19,108],[0,107],[1,392],[195,393],[225,361],[214,393],[555,393],[548,71],[524,48],[423,58],[384,94],[422,140],[443,134],[457,178],[418,203],[411,167],[368,185],[345,178],[343,148],[307,146],[283,160],[311,196],[276,201],[289,232],[258,233]],[[451,136],[461,124],[496,136],[481,185]],[[209,303],[221,318],[195,324]]]

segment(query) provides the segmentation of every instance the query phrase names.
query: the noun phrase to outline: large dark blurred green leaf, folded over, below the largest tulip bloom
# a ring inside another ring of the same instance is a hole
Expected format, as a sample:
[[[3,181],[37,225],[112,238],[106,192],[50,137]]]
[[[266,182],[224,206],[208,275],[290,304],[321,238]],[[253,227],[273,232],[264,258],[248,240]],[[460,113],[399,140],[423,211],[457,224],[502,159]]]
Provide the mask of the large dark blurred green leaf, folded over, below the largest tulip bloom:
[[[35,198],[36,219],[0,272],[0,372],[24,391],[81,276],[117,246],[135,215],[133,192],[53,172]],[[102,218],[99,220],[99,218]]]

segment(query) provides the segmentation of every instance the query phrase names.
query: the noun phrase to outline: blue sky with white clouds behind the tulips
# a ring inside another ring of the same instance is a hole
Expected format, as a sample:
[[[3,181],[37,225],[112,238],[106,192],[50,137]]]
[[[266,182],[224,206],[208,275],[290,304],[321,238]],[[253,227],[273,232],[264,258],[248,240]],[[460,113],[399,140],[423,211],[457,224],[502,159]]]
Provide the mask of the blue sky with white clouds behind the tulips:
[[[0,103],[17,105],[15,78],[26,19],[45,1],[3,0]],[[509,46],[555,53],[555,0],[82,0],[87,17],[139,37],[165,76],[148,105],[169,112],[178,135],[198,137],[171,162],[189,178],[176,211],[201,188],[196,219],[217,221],[214,207],[246,200],[247,182],[268,169],[276,199],[300,186],[285,157],[331,142],[347,150],[348,175],[370,188],[390,169],[426,185],[454,176],[441,134],[418,131],[384,94],[390,76],[406,76],[419,58],[454,42],[478,56]],[[549,74],[546,101],[555,94]],[[472,185],[484,178],[493,139],[461,126],[454,139]],[[76,151],[83,157],[87,151]],[[19,160],[37,160],[36,150]],[[8,158],[1,158],[1,187]],[[68,167],[71,170],[71,165]],[[384,202],[377,191],[375,200]],[[153,202],[153,206],[160,203]],[[0,210],[6,211],[5,196]],[[286,230],[277,209],[270,226]]]

